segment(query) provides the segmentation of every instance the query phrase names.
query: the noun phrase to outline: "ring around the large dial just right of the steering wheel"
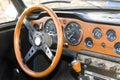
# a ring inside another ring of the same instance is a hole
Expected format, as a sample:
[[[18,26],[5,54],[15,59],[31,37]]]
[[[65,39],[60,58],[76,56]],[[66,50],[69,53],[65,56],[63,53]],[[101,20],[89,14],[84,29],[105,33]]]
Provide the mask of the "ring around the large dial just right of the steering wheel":
[[[74,43],[71,43],[71,42],[67,39],[66,34],[65,34],[65,29],[66,29],[70,24],[72,24],[72,23],[77,24],[78,27],[79,27],[79,29],[80,29],[79,40],[78,40],[78,42],[75,43],[75,44],[74,44]],[[82,27],[81,27],[81,25],[80,25],[79,23],[77,23],[77,22],[74,22],[74,21],[69,22],[69,23],[66,25],[66,27],[64,28],[64,38],[65,38],[66,42],[67,42],[69,45],[71,45],[71,46],[79,45],[80,42],[82,41],[82,38],[83,38],[83,31],[82,31]]]

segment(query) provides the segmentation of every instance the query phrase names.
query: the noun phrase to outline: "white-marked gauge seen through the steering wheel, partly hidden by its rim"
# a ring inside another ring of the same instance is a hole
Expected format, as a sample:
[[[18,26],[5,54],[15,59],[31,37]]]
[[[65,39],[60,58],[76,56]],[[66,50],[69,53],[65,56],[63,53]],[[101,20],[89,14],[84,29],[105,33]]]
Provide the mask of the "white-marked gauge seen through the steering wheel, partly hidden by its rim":
[[[55,24],[52,19],[49,19],[44,26],[44,32],[49,34],[57,34]]]

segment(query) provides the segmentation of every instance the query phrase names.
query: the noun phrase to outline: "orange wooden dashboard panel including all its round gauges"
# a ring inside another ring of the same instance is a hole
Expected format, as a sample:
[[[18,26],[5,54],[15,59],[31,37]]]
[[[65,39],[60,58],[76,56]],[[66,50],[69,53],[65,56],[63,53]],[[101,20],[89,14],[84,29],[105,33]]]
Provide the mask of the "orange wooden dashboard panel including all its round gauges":
[[[120,57],[120,26],[90,23],[72,18],[59,18],[64,33],[64,48],[80,51],[87,50]],[[54,22],[50,17],[33,21],[44,25],[43,31],[55,35]]]

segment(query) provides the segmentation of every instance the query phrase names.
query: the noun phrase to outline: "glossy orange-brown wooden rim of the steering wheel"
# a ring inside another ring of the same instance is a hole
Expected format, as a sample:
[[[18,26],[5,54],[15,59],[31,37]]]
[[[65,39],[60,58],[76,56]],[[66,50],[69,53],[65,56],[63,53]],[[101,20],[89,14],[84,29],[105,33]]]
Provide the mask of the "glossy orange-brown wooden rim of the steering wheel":
[[[31,70],[26,64],[23,63],[23,58],[22,58],[22,53],[20,51],[20,33],[21,33],[21,28],[22,28],[22,24],[23,24],[23,19],[32,11],[34,10],[43,10],[46,11],[51,18],[53,19],[56,29],[57,29],[57,35],[58,35],[58,42],[57,42],[57,50],[56,50],[56,55],[51,63],[51,65],[44,71],[42,72],[35,72],[33,70]],[[15,31],[14,31],[14,50],[15,50],[15,56],[17,58],[18,64],[20,65],[20,67],[22,68],[22,70],[28,74],[31,77],[44,77],[47,76],[48,74],[50,74],[55,67],[57,66],[60,58],[61,58],[61,54],[62,54],[62,48],[63,48],[63,35],[62,35],[62,27],[61,24],[59,22],[59,19],[57,17],[57,15],[53,12],[53,10],[49,9],[46,6],[42,6],[42,5],[38,5],[38,6],[33,6],[30,7],[28,9],[26,9],[21,16],[19,17],[16,27],[15,27]]]

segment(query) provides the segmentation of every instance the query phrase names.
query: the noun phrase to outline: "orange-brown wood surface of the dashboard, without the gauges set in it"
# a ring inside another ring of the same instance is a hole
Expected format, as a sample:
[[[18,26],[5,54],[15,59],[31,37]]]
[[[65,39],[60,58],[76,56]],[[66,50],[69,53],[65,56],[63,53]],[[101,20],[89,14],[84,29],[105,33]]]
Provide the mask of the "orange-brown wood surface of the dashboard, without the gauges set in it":
[[[43,23],[43,25],[44,25],[48,19],[50,19],[50,17],[44,17],[44,18],[41,18],[39,20],[31,21],[31,23],[33,25],[34,24],[39,25],[40,23]],[[59,18],[59,19],[60,19],[61,25],[63,27],[63,34],[64,34],[64,28],[70,22],[78,23],[81,26],[82,31],[83,31],[83,38],[82,38],[82,41],[80,42],[80,44],[78,44],[76,46],[68,45],[68,47],[65,47],[65,48],[67,48],[69,50],[74,50],[74,51],[87,50],[87,51],[97,52],[97,53],[101,53],[101,54],[120,57],[120,55],[117,54],[114,50],[114,45],[117,42],[120,42],[120,36],[119,36],[120,35],[120,26],[98,24],[98,23],[89,23],[89,22],[84,22],[82,20],[71,19],[71,18]],[[93,29],[95,29],[95,28],[100,28],[102,31],[102,37],[100,39],[95,39],[93,36]],[[112,42],[108,41],[106,38],[106,32],[110,29],[112,29],[116,32],[116,39]],[[87,48],[85,46],[84,40],[87,37],[90,37],[93,40],[94,45],[92,48]],[[64,43],[66,43],[65,38],[64,38]],[[101,46],[102,44],[104,44],[105,47],[102,47]]]

